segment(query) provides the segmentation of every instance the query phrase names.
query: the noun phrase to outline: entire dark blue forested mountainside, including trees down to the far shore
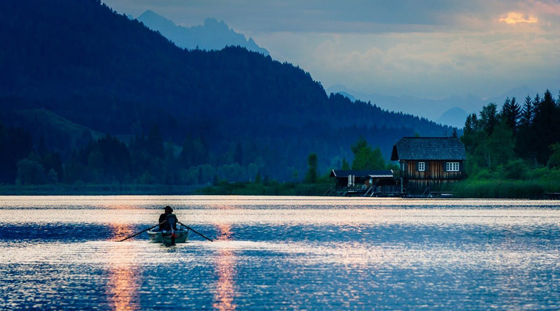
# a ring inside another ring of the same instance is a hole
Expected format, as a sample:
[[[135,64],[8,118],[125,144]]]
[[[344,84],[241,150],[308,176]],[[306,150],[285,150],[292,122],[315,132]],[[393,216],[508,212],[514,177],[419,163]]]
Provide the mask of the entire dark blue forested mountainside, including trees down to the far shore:
[[[178,48],[95,0],[1,1],[0,39],[6,183],[18,164],[44,175],[24,184],[302,180],[309,154],[339,168],[360,136],[388,157],[402,136],[453,131],[244,48]]]

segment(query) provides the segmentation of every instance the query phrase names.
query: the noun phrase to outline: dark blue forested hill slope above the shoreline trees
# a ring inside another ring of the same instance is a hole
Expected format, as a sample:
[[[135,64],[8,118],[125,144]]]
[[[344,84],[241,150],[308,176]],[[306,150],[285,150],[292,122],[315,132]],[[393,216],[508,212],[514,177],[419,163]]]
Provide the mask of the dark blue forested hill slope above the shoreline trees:
[[[283,179],[287,167],[304,169],[310,152],[323,168],[350,157],[360,135],[388,154],[400,136],[451,133],[328,96],[301,68],[244,48],[182,50],[99,1],[0,1],[0,40],[4,122],[43,108],[113,135],[144,136],[158,125],[176,145],[201,142],[201,161],[214,166],[253,163]],[[241,156],[220,156],[231,150]]]

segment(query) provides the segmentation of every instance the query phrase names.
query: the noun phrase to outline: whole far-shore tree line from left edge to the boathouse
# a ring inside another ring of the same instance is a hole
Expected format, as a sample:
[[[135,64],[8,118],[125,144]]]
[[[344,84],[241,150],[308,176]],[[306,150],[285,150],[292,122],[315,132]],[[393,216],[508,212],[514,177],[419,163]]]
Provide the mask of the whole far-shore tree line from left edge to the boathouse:
[[[165,142],[158,126],[153,126],[147,135],[135,136],[128,143],[109,134],[98,139],[90,136],[85,145],[64,155],[48,150],[43,140],[34,143],[24,129],[0,124],[0,183],[217,185],[220,182],[267,184],[276,180],[274,175],[269,175],[261,152],[247,146],[234,143],[225,154],[213,154],[202,138],[189,136],[177,147]],[[363,137],[351,145],[351,150],[351,166],[346,157],[340,156],[320,166],[317,154],[309,154],[307,167],[302,164],[299,170],[288,168],[287,181],[311,184],[325,181],[332,168],[391,168],[381,149],[370,147]]]

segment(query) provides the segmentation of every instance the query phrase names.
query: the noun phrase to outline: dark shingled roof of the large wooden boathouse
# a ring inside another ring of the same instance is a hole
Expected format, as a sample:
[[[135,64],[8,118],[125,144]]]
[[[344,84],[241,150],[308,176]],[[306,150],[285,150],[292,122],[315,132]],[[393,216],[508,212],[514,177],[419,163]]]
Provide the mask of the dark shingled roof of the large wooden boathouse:
[[[403,137],[391,153],[391,161],[466,159],[465,145],[452,137]]]

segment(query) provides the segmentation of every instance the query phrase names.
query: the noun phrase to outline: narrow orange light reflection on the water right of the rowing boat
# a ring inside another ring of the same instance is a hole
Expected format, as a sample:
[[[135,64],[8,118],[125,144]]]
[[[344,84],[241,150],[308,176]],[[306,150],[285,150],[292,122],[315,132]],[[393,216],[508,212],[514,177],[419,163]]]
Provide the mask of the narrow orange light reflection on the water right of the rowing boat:
[[[231,240],[231,224],[215,224],[218,229],[218,243],[221,243],[216,256],[216,293],[214,294],[213,307],[215,310],[235,310],[233,303],[235,296],[235,254],[226,241]]]

